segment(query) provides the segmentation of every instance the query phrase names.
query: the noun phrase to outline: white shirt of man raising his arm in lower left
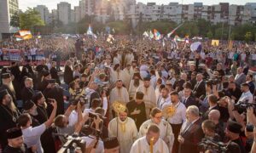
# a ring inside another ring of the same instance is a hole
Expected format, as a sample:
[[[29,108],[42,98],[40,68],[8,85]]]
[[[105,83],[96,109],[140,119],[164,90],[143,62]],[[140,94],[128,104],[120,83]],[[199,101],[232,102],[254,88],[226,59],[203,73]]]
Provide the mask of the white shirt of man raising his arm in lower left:
[[[40,137],[44,133],[45,129],[45,124],[41,124],[38,127],[27,127],[26,129],[22,129],[24,143],[27,145],[27,148],[35,145],[38,153],[44,152]]]

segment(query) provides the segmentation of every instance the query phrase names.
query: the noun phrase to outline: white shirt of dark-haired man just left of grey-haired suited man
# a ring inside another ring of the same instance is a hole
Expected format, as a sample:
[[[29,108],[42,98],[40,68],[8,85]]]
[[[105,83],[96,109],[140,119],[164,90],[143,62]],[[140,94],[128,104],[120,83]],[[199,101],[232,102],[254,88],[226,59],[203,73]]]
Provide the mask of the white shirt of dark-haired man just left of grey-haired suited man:
[[[167,118],[167,121],[170,122],[171,124],[182,124],[183,122],[186,121],[186,110],[187,110],[186,106],[183,105],[183,103],[178,102],[177,105],[175,105],[175,107],[176,107],[176,113],[174,114],[174,116]]]

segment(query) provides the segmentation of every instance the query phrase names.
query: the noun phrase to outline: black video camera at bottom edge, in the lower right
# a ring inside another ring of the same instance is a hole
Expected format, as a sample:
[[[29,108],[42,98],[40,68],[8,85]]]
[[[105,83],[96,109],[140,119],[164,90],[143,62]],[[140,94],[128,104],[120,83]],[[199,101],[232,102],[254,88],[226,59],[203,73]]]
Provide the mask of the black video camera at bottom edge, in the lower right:
[[[218,153],[225,153],[228,150],[227,145],[224,143],[207,138],[201,139],[201,142],[197,145],[200,151],[214,150]]]

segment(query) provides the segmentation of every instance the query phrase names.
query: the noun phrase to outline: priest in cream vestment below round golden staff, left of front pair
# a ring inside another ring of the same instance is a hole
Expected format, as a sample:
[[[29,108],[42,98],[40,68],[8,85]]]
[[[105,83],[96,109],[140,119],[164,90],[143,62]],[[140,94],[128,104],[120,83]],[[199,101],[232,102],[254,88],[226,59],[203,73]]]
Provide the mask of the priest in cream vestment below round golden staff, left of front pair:
[[[131,145],[137,139],[137,127],[135,122],[127,117],[125,112],[119,112],[119,116],[113,118],[108,124],[108,137],[117,137],[121,153],[129,153]]]

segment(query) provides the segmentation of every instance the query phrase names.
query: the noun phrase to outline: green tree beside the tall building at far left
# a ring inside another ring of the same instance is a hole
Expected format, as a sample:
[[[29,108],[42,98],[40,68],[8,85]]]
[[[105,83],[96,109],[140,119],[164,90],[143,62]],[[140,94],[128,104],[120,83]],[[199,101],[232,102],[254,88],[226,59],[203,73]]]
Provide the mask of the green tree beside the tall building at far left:
[[[33,31],[34,26],[44,26],[38,11],[28,8],[26,12],[20,14],[20,29]]]

